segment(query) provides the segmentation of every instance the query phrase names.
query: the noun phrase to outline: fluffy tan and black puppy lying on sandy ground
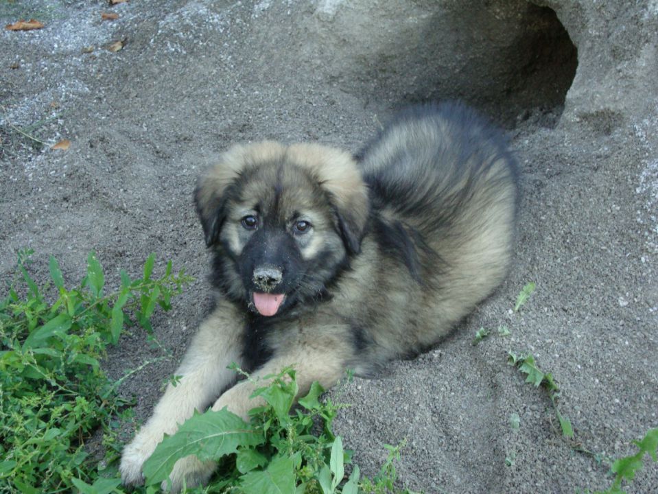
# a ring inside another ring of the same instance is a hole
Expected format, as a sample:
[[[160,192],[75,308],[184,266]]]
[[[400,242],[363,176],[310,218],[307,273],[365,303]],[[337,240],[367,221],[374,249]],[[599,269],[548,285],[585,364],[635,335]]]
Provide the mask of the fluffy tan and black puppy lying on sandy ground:
[[[124,484],[194,410],[261,404],[232,362],[255,376],[294,365],[303,396],[436,344],[506,276],[517,182],[500,133],[459,104],[408,108],[356,157],[273,141],[224,152],[195,191],[215,307],[124,449]],[[174,491],[214,469],[178,460]]]

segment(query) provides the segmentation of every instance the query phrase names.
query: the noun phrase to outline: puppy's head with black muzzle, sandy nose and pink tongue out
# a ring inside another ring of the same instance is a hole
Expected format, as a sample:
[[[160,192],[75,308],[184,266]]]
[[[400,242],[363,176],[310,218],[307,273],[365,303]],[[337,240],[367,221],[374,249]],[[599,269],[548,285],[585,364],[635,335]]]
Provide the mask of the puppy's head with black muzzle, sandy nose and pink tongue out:
[[[360,252],[368,193],[353,158],[314,144],[236,145],[200,178],[215,285],[261,316],[320,296]]]

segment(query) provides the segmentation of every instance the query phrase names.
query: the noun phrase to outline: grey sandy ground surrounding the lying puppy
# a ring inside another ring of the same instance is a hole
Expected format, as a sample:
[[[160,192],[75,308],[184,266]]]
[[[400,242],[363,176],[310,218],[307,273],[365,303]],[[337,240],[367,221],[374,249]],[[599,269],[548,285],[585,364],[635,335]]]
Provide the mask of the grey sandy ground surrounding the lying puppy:
[[[101,1],[1,2],[1,25],[21,16],[46,23],[0,32],[3,285],[20,248],[36,251],[42,281],[48,255],[77,280],[95,250],[110,284],[119,268],[137,273],[155,252],[160,268],[172,259],[196,277],[154,324],[180,357],[210,299],[209,257],[191,202],[199,170],[234,141],[320,141],[355,152],[400,104],[299,62],[303,37],[290,33],[314,9],[131,1],[112,9],[119,19],[101,21],[110,10]],[[124,48],[108,51],[117,40]],[[340,394],[352,406],[336,427],[365,473],[376,473],[384,443],[405,439],[401,483],[427,493],[609,486],[607,467],[556,432],[545,392],[506,364],[510,349],[532,352],[552,372],[561,410],[586,449],[624,456],[635,451],[631,440],[658,426],[657,113],[572,110],[555,126],[560,113],[530,108],[508,126],[523,198],[507,281],[433,351],[390,364],[380,379],[355,379]],[[16,127],[71,147],[50,150]],[[537,290],[513,313],[528,281]],[[500,325],[510,336],[497,336]],[[473,346],[480,327],[492,336]],[[134,333],[106,365],[119,377],[158,355]],[[123,386],[137,396],[139,418],[175,367],[154,364]],[[510,427],[513,413],[519,430]],[[658,492],[657,465],[627,490]]]

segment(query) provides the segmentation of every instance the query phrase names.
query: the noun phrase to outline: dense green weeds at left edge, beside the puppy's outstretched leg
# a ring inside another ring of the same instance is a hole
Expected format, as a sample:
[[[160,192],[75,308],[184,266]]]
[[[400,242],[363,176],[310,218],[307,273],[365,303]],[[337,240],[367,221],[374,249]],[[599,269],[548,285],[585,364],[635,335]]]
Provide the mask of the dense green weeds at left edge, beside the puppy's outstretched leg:
[[[8,295],[0,301],[0,491],[57,493],[93,482],[107,491],[115,481],[98,478],[85,449],[99,428],[104,463],[118,458],[117,418],[130,413],[99,360],[132,320],[150,331],[156,305],[168,310],[172,296],[191,279],[184,272],[152,279],[154,255],[143,276],[121,271],[121,286],[106,294],[103,269],[87,258],[86,276],[67,288],[54,257],[51,284],[39,287],[27,267],[32,250],[19,252]],[[130,316],[132,315],[132,319]]]

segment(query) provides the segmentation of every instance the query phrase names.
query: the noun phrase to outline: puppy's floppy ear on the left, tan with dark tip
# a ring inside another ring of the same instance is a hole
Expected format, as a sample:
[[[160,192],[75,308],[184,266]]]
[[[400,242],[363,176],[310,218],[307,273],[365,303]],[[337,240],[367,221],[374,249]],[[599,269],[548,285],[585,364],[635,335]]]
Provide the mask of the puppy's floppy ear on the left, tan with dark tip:
[[[226,220],[228,196],[231,189],[237,187],[242,172],[282,154],[283,146],[272,141],[238,144],[222,153],[218,162],[202,174],[194,191],[194,202],[208,247],[219,242]]]

